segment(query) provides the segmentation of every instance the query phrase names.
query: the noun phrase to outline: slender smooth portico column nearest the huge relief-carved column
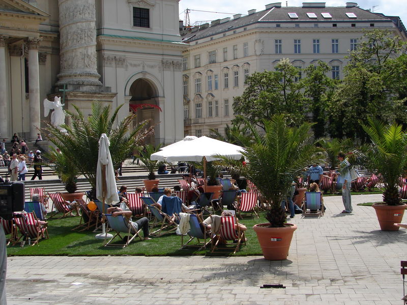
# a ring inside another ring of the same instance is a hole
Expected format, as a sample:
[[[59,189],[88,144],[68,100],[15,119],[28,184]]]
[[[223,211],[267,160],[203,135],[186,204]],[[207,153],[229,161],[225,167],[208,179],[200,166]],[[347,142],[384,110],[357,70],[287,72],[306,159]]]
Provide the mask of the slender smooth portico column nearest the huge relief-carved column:
[[[38,46],[40,39],[28,38],[28,100],[30,101],[30,140],[37,138],[40,123],[40,71]]]

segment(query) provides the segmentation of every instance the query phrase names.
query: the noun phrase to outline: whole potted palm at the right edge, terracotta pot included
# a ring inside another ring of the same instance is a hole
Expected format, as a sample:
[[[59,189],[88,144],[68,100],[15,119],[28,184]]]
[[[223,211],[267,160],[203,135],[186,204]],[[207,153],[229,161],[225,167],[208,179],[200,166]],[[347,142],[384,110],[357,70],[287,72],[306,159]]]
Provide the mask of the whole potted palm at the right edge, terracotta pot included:
[[[374,203],[380,228],[383,231],[397,231],[394,223],[401,222],[407,204],[401,202],[397,188],[398,178],[407,165],[407,135],[401,125],[385,125],[370,118],[368,125],[361,124],[371,143],[361,146],[357,151],[365,167],[381,177],[385,186],[383,203]]]

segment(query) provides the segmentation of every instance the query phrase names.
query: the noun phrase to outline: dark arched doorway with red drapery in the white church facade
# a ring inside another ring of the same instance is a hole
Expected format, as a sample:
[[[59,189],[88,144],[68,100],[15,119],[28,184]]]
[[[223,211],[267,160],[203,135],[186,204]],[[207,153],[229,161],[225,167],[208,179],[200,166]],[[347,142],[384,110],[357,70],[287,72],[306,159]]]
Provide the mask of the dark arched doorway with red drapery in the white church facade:
[[[135,112],[136,117],[133,120],[133,128],[145,120],[150,120],[150,126],[159,123],[159,111],[161,111],[157,98],[159,97],[158,90],[146,78],[136,79],[130,86],[130,110]],[[154,128],[155,133],[146,138],[146,144],[156,144],[155,139],[160,138],[159,128]]]

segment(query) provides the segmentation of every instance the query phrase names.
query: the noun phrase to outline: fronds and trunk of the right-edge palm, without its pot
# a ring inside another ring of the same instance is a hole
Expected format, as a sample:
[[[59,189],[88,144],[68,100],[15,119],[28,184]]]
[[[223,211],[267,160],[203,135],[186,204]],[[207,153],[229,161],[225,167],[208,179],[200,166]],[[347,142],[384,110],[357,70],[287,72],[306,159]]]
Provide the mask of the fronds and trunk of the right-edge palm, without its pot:
[[[367,169],[381,175],[385,185],[383,201],[388,205],[397,205],[401,201],[397,181],[407,164],[407,135],[401,125],[385,125],[373,118],[368,119],[368,125],[361,126],[371,144],[361,146],[358,153]]]

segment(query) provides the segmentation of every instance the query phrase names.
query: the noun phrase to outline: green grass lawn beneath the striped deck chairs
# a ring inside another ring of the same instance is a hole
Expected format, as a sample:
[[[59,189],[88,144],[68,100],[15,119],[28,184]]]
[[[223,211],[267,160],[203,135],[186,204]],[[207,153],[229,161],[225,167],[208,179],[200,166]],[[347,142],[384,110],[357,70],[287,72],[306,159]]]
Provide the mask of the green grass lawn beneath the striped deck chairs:
[[[253,231],[253,225],[266,222],[265,212],[260,213],[260,219],[245,217],[240,220],[247,226],[246,246],[241,246],[241,250],[236,253],[237,256],[261,255],[260,245],[256,233]],[[160,237],[153,237],[148,241],[140,241],[135,238],[127,248],[103,247],[104,240],[95,238],[92,231],[75,232],[72,231],[79,224],[79,217],[70,217],[66,219],[48,220],[49,239],[42,239],[39,246],[28,246],[24,248],[19,246],[7,247],[7,254],[14,255],[68,255],[68,256],[95,256],[95,255],[146,255],[146,256],[179,256],[179,255],[233,255],[230,252],[218,252],[212,254],[210,250],[197,251],[198,248],[187,248],[180,250],[181,236],[175,233],[169,233]],[[185,239],[188,236],[184,236]],[[193,243],[194,241],[192,241]]]

